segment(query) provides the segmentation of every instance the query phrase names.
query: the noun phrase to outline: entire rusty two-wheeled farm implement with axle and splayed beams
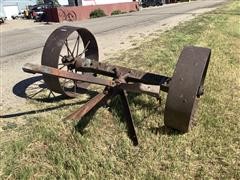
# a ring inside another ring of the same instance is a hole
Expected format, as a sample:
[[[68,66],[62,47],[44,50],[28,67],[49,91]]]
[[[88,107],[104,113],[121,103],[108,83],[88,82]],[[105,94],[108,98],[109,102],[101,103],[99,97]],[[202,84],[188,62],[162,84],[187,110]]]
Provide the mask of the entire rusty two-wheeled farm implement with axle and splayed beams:
[[[77,34],[76,41],[71,49],[68,38],[74,32]],[[80,41],[83,44],[82,51],[79,50]],[[66,52],[62,54],[64,48]],[[119,95],[129,137],[134,145],[138,145],[127,92],[145,93],[157,99],[160,99],[160,91],[168,93],[164,124],[183,133],[188,132],[192,126],[197,101],[203,95],[210,56],[211,50],[208,48],[184,47],[173,76],[167,77],[101,63],[96,39],[90,31],[85,28],[62,26],[49,36],[43,49],[42,65],[27,63],[23,70],[28,73],[43,74],[49,90],[67,97],[79,95],[81,89],[86,89],[89,84],[105,86],[102,93],[67,116],[67,119],[80,120],[92,109]],[[97,75],[102,76],[100,78]]]

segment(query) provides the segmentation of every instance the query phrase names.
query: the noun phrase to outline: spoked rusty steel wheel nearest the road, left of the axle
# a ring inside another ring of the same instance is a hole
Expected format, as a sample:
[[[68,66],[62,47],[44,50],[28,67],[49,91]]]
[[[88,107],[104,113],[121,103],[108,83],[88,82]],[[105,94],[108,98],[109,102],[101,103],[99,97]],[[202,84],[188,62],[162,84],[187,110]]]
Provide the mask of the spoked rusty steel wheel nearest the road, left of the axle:
[[[85,28],[62,26],[47,39],[41,64],[79,73],[74,68],[75,58],[79,56],[95,61],[99,60],[95,37]],[[43,75],[43,79],[48,89],[68,97],[75,97],[78,89],[87,88],[89,85],[49,75]]]

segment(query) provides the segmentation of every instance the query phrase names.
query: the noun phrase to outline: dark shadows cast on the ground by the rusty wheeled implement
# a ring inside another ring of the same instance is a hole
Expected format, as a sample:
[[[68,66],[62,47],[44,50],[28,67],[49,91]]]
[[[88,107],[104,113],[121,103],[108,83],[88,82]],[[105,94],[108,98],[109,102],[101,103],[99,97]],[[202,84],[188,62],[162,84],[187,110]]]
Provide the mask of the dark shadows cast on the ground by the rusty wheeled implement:
[[[36,91],[36,92],[34,92],[33,95],[28,94],[27,89],[29,89],[29,88],[33,91]],[[63,95],[58,95],[58,96],[53,96],[53,97],[35,98],[35,96],[38,93],[41,93],[42,90],[46,90],[46,89],[47,89],[47,87],[46,87],[46,85],[45,85],[45,83],[42,79],[42,76],[35,76],[35,77],[31,77],[31,78],[28,78],[28,79],[25,79],[25,80],[22,80],[22,81],[18,82],[13,87],[13,93],[16,96],[19,96],[19,97],[22,97],[22,98],[33,99],[33,100],[40,101],[40,102],[58,102],[58,101],[66,99],[66,96],[63,96]],[[91,98],[91,97],[95,96],[97,92],[82,89],[80,93],[88,94]],[[139,98],[136,99],[136,97],[139,96],[139,95],[140,94],[138,94],[138,93],[129,93],[129,95],[128,95],[129,104],[130,105],[132,103],[138,104],[138,105],[141,105],[142,108],[149,108],[149,107],[152,106],[151,103],[147,103],[146,101],[143,101]],[[23,116],[23,115],[38,114],[38,113],[42,113],[42,112],[48,112],[48,111],[56,110],[56,109],[63,108],[63,107],[68,107],[68,106],[71,106],[71,105],[78,105],[78,104],[81,105],[81,104],[86,103],[87,101],[88,100],[81,101],[81,102],[76,102],[76,103],[68,103],[68,104],[58,105],[58,106],[44,108],[44,109],[31,110],[31,111],[25,111],[25,112],[13,113],[13,114],[5,114],[5,115],[1,115],[0,118],[13,118],[13,117],[18,117],[18,116]],[[113,97],[111,99],[110,103],[107,106],[110,107],[110,109],[109,109],[110,112],[115,113],[119,117],[121,123],[126,123],[125,115],[124,115],[124,111],[123,111],[123,104],[122,104],[119,96]],[[89,113],[87,113],[83,118],[81,118],[79,120],[79,122],[75,126],[76,131],[78,131],[81,134],[84,133],[83,132],[84,129],[89,124],[90,120],[93,118],[94,114],[96,113],[96,111],[98,110],[99,107],[100,106],[96,106]],[[151,110],[152,111],[160,111],[159,115],[164,113],[162,108],[161,108],[161,110],[159,110],[158,108],[153,107],[153,108],[151,108]],[[137,127],[140,123],[141,122],[135,122]],[[165,126],[152,127],[149,130],[152,133],[155,133],[155,134],[167,134],[167,135],[179,135],[179,134],[181,134],[180,132],[178,132],[176,130],[173,130],[173,129],[170,129],[170,128],[167,128]]]

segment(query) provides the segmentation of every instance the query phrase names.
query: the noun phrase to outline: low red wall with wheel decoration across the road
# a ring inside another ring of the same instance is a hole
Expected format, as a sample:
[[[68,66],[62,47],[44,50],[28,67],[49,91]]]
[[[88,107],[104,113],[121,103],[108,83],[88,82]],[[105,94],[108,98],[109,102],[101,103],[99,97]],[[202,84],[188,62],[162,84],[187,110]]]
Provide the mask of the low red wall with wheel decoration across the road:
[[[134,12],[139,10],[138,0],[58,0],[61,7],[47,9],[49,22],[81,21],[89,19],[91,12],[101,9],[107,16],[113,11]]]

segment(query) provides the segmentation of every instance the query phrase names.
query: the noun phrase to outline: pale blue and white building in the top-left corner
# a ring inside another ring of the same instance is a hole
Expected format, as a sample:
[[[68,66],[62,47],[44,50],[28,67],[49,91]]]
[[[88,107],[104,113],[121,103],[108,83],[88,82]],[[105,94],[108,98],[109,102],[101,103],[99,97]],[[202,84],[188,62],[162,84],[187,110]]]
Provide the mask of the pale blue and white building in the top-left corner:
[[[3,14],[7,19],[11,19],[12,15],[17,15],[28,5],[36,4],[36,0],[0,0],[0,14]]]

